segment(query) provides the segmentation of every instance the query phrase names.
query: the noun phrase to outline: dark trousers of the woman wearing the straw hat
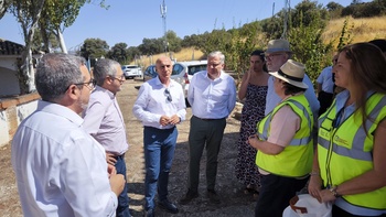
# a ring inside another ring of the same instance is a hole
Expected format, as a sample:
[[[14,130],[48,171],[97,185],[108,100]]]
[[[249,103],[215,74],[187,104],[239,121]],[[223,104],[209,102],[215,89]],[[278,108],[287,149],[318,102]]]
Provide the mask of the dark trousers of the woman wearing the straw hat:
[[[298,180],[274,174],[261,175],[261,188],[257,199],[256,217],[281,217],[289,200],[301,191],[308,178]]]

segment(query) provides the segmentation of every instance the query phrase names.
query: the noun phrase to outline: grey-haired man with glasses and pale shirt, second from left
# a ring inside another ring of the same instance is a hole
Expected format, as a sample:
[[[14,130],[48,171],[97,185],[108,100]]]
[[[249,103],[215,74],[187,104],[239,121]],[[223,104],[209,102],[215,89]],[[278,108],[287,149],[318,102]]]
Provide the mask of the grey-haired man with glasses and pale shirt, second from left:
[[[96,62],[93,74],[97,86],[84,112],[83,127],[105,148],[107,163],[114,165],[117,173],[122,174],[126,180],[125,153],[129,144],[124,117],[116,97],[125,82],[125,75],[120,64],[108,58]],[[118,217],[130,216],[127,193],[127,185],[125,185],[118,197]]]

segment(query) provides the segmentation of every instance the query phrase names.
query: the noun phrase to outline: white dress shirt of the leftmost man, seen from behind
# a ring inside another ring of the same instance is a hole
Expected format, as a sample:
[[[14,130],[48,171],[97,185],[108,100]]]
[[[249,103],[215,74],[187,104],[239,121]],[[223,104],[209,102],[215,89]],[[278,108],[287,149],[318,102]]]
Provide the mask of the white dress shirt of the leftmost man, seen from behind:
[[[83,119],[39,101],[12,141],[12,166],[24,216],[115,216],[105,151]]]

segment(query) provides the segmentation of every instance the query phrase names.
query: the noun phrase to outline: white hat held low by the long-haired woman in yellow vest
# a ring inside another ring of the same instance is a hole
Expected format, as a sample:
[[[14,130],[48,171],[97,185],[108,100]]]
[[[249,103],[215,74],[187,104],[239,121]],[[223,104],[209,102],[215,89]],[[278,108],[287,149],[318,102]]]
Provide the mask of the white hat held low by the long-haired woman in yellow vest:
[[[297,195],[283,210],[282,217],[332,217],[331,203],[319,203],[309,194]]]

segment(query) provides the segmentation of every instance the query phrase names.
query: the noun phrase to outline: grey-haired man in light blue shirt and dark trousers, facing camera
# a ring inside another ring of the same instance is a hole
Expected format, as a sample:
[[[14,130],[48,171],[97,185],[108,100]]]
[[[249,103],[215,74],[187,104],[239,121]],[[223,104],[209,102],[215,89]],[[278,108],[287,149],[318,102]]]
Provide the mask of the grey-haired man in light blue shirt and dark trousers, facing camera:
[[[189,189],[181,204],[199,196],[200,161],[205,145],[207,196],[212,203],[221,203],[215,192],[217,155],[226,118],[236,104],[235,80],[223,70],[224,62],[223,53],[212,52],[207,56],[206,70],[194,74],[189,86],[187,100],[193,113],[189,132]]]

